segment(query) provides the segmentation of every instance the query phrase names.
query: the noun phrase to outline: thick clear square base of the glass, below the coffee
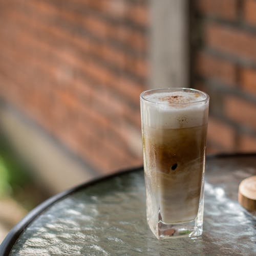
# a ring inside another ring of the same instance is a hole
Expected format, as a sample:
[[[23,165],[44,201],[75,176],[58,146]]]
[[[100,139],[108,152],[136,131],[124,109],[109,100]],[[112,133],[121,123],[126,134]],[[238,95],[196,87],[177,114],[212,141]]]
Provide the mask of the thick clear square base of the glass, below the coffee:
[[[162,221],[159,221],[157,229],[151,227],[151,230],[158,239],[170,239],[179,237],[197,238],[201,236],[203,227],[202,225],[196,225],[196,220],[175,224],[166,224]]]

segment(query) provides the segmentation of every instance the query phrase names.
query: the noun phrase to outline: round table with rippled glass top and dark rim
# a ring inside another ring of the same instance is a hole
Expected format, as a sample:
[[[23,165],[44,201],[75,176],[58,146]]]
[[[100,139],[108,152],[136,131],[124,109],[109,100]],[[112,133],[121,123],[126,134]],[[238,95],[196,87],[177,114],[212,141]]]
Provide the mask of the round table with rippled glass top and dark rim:
[[[203,234],[157,240],[146,223],[143,168],[78,186],[20,221],[0,255],[256,255],[255,213],[237,201],[238,185],[256,174],[256,154],[206,160]]]

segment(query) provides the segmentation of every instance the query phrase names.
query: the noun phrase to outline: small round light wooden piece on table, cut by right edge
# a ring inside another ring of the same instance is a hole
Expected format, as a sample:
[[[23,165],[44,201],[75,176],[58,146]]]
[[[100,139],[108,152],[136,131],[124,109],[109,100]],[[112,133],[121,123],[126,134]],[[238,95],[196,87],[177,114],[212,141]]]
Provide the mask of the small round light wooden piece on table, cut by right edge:
[[[256,175],[240,183],[238,201],[247,210],[256,211]]]

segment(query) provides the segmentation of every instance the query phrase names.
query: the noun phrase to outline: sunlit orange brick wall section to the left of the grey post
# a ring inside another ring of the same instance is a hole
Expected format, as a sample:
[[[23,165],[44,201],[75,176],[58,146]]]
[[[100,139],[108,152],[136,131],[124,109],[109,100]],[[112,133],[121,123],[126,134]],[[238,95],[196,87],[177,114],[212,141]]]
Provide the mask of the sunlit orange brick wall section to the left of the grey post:
[[[0,97],[95,169],[141,164],[146,0],[0,0]]]

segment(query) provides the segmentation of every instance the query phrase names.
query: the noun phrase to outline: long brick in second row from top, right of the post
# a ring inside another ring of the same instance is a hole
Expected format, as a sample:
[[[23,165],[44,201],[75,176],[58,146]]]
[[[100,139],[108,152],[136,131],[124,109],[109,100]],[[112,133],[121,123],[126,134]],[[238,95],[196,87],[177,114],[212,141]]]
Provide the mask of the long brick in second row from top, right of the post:
[[[256,60],[256,35],[228,26],[208,24],[206,44],[219,51],[241,58]]]

